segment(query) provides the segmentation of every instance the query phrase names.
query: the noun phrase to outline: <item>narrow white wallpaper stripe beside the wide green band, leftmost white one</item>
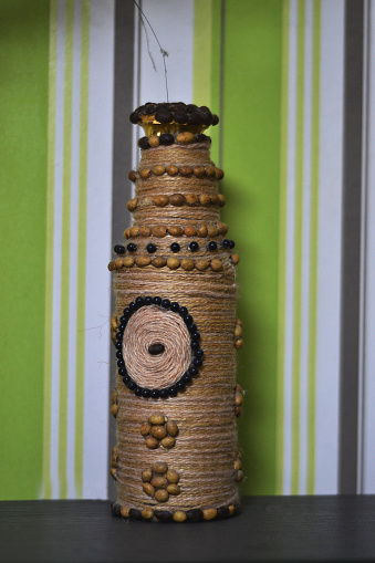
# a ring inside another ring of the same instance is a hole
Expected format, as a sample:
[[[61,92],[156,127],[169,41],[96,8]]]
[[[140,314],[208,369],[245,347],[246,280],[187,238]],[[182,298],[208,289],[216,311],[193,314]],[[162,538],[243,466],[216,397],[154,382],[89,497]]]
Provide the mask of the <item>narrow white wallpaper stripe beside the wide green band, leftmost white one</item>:
[[[59,498],[59,419],[60,419],[60,314],[61,314],[61,241],[63,191],[63,140],[64,140],[64,48],[65,3],[59,1],[56,38],[56,129],[54,168],[54,219],[53,219],[53,321],[52,321],[52,373],[51,373],[51,482],[52,498]]]

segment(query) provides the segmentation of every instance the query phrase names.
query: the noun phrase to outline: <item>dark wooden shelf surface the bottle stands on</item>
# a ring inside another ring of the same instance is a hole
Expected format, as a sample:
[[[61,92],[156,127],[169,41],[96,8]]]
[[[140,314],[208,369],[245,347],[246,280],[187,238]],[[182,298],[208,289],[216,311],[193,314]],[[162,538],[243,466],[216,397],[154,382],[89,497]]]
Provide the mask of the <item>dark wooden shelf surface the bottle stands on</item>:
[[[184,524],[114,518],[110,501],[3,501],[0,561],[375,561],[375,496],[247,497],[235,518]]]

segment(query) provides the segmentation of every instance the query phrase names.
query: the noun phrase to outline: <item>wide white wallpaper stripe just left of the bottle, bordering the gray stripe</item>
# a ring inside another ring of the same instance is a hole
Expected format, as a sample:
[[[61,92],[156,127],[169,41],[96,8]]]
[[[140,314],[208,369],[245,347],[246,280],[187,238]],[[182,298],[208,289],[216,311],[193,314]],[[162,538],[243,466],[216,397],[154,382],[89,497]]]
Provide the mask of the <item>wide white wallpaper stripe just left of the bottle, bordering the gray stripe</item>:
[[[107,497],[114,1],[90,3],[83,497]]]

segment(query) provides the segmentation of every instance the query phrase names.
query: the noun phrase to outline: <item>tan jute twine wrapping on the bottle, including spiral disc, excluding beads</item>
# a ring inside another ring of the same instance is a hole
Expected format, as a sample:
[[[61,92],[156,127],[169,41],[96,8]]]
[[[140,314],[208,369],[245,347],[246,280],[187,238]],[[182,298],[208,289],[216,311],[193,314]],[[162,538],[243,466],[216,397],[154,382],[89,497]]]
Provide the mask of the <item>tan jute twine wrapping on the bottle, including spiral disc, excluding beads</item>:
[[[191,146],[158,147],[143,152],[139,169],[165,166],[195,166],[212,164],[207,144]],[[136,196],[142,199],[149,195],[218,194],[217,181],[181,177],[150,177],[137,179]],[[215,217],[213,217],[215,216]],[[180,207],[156,209],[139,206],[134,212],[139,226],[190,225],[204,221],[220,221],[218,208]],[[233,462],[237,457],[237,426],[233,411],[236,386],[236,348],[233,327],[236,325],[237,283],[235,265],[228,260],[228,252],[218,251],[210,256],[206,250],[209,240],[218,243],[222,236],[199,239],[200,251],[196,257],[221,258],[225,268],[220,272],[128,268],[115,272],[116,313],[121,316],[124,307],[138,295],[158,295],[185,305],[194,317],[200,333],[200,345],[205,352],[204,365],[184,393],[167,399],[137,397],[117,375],[117,503],[128,508],[150,507],[163,510],[210,508],[238,503],[238,489]],[[145,246],[157,244],[155,256],[191,258],[187,244],[192,240],[179,237],[180,252],[173,254],[169,244],[177,239],[170,236],[137,238],[137,256],[147,256]],[[194,239],[198,240],[198,239]],[[176,321],[177,319],[177,321]],[[162,340],[160,334],[164,334]],[[147,352],[153,342],[163,342],[162,356]],[[124,334],[124,358],[129,374],[140,386],[162,388],[171,385],[190,361],[189,336],[179,315],[162,311],[156,305],[137,311]],[[171,449],[159,446],[148,449],[140,435],[142,424],[154,414],[163,414],[177,423],[179,434]],[[156,461],[165,461],[169,469],[180,476],[178,496],[169,496],[159,503],[143,491],[142,472]]]

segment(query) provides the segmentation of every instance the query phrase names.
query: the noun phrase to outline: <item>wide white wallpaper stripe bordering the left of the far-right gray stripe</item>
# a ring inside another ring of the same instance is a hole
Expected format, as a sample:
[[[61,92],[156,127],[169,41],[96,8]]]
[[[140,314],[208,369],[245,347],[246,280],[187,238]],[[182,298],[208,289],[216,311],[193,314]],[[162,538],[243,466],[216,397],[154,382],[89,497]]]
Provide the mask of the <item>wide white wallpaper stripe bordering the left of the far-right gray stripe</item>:
[[[322,1],[315,493],[337,492],[344,9]]]

